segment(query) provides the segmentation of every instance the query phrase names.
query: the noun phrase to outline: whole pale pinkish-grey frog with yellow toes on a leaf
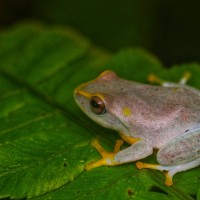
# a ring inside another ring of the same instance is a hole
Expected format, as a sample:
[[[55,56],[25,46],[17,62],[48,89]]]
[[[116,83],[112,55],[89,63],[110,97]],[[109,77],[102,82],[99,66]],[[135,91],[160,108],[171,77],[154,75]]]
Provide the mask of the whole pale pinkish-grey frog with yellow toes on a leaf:
[[[80,109],[121,137],[113,152],[94,139],[92,146],[102,158],[88,163],[86,170],[136,162],[138,169],[164,172],[165,184],[171,186],[176,173],[198,167],[200,91],[186,85],[189,78],[188,72],[179,83],[173,83],[150,75],[150,82],[159,83],[155,85],[126,80],[106,70],[75,88],[74,98]],[[130,146],[121,150],[124,142]],[[140,161],[154,151],[157,164]]]

